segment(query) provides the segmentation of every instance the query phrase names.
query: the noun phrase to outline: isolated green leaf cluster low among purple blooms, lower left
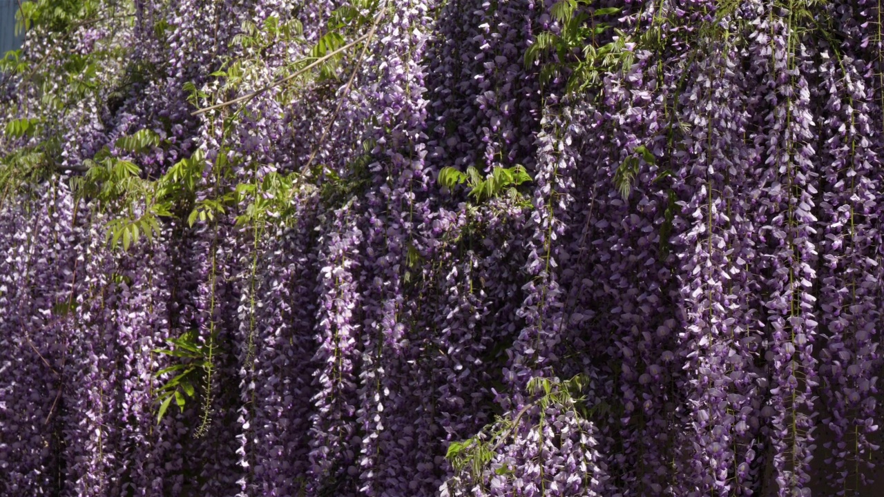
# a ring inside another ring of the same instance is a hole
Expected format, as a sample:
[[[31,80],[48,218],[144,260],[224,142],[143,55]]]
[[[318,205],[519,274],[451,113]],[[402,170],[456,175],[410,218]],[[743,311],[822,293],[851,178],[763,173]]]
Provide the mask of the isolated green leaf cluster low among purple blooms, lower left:
[[[172,399],[183,412],[187,403],[187,397],[193,398],[196,394],[196,386],[202,384],[202,378],[210,368],[210,356],[212,354],[212,340],[201,342],[199,333],[189,331],[177,339],[168,339],[173,348],[156,348],[156,354],[164,354],[179,358],[179,363],[172,364],[160,371],[156,371],[156,378],[167,373],[175,373],[176,376],[165,381],[156,391],[156,401],[159,408],[156,411],[156,423],[163,420],[165,412],[169,409]]]

